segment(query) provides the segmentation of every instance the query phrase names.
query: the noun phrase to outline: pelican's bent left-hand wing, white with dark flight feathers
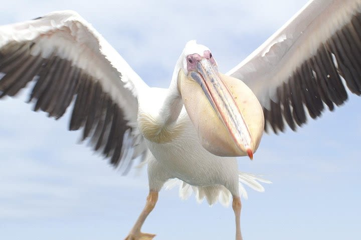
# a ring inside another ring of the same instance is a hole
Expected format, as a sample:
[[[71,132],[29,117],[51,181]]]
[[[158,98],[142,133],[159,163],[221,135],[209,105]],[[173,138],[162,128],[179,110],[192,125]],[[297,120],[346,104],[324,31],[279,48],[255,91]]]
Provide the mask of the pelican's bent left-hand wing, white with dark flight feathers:
[[[0,26],[0,72],[0,97],[34,80],[29,101],[49,116],[61,117],[74,100],[69,129],[83,128],[83,140],[113,165],[127,171],[145,156],[136,119],[137,94],[147,85],[76,12]]]

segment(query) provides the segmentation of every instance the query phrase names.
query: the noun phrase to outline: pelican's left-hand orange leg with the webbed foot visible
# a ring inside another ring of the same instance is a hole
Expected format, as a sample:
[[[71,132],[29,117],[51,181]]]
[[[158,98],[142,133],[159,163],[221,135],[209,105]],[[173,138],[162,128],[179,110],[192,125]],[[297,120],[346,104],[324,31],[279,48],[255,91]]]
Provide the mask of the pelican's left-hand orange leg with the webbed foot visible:
[[[153,210],[157,200],[158,200],[158,192],[157,191],[149,191],[143,211],[140,213],[133,228],[130,230],[129,235],[124,240],[151,240],[151,239],[153,239],[155,234],[140,232],[140,228],[142,227],[142,225],[145,221],[145,218]]]

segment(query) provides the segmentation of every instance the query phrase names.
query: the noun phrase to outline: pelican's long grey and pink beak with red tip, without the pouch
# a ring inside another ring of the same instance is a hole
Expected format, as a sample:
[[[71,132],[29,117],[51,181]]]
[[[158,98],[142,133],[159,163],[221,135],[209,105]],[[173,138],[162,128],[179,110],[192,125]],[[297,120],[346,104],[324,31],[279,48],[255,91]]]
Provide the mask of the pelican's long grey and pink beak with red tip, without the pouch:
[[[191,71],[189,75],[201,85],[235,145],[239,149],[246,150],[248,156],[253,159],[250,131],[235,98],[222,80],[217,68],[208,59],[201,59],[197,63],[197,71]]]

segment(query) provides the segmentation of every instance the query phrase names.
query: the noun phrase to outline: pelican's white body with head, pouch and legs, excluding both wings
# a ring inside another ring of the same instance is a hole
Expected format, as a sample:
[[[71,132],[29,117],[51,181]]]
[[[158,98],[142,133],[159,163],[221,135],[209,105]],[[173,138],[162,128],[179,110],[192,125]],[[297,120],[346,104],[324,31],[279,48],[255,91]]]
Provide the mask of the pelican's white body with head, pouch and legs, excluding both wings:
[[[164,183],[173,178],[191,185],[198,199],[206,197],[209,204],[222,197],[227,205],[233,196],[236,239],[242,239],[239,172],[234,156],[253,157],[262,136],[264,116],[256,96],[238,82],[218,73],[206,46],[190,41],[177,61],[169,88],[151,88],[141,94],[137,120],[151,153],[150,193],[126,239],[153,237],[141,233],[140,227]]]

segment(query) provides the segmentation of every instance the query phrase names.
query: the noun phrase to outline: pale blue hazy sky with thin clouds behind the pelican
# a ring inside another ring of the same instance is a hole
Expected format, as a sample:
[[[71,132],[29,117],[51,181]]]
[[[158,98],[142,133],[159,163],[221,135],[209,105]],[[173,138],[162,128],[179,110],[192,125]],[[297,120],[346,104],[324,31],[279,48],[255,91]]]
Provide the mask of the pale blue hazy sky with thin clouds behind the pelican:
[[[227,72],[306,0],[13,0],[0,24],[60,9],[78,11],[150,86],[167,87],[186,42],[197,39]],[[80,132],[33,112],[19,97],[0,100],[0,238],[124,239],[148,193],[146,171],[113,169]],[[264,134],[254,160],[239,169],[263,175],[265,192],[247,188],[241,228],[247,239],[356,239],[361,234],[361,99],[309,120],[297,132]],[[162,190],[143,225],[154,239],[234,239],[232,208]]]

